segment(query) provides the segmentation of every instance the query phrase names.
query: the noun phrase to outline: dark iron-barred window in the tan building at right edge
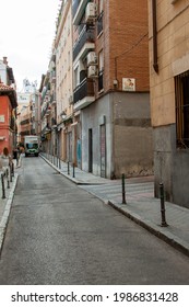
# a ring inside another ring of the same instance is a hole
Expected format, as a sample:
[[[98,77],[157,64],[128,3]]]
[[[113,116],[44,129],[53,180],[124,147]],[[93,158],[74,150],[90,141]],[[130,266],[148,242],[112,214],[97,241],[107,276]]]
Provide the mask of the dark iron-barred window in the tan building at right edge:
[[[189,148],[189,70],[175,77],[177,147]]]

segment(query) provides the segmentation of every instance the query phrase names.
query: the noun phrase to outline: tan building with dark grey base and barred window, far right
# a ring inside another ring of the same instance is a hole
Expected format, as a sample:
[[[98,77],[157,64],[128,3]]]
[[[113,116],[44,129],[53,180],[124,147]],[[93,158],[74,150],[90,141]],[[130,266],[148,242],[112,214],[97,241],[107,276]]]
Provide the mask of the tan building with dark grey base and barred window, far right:
[[[155,195],[189,207],[189,1],[149,0]]]

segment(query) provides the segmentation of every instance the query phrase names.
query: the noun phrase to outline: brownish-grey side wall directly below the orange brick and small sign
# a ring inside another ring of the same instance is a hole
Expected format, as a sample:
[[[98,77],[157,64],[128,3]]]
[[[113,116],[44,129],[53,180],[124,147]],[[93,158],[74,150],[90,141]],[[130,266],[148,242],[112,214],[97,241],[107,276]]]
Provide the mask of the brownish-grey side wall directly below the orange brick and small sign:
[[[149,93],[114,94],[115,175],[153,173]]]

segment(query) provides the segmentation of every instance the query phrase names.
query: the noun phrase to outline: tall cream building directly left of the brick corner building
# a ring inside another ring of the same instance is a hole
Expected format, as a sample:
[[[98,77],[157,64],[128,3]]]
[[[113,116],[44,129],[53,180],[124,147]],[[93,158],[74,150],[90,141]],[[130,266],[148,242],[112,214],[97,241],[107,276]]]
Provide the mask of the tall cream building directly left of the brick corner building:
[[[70,162],[74,160],[72,44],[72,1],[62,0],[55,39],[57,144],[59,157]]]

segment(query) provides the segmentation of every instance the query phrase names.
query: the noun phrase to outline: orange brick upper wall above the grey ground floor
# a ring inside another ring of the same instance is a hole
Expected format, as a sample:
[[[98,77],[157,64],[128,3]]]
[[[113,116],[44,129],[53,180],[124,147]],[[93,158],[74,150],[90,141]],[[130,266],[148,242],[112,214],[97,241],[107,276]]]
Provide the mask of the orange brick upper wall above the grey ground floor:
[[[122,78],[135,78],[137,91],[149,91],[147,3],[145,0],[104,1],[104,30],[96,49],[104,49],[105,91],[122,89]],[[142,38],[143,37],[143,38]]]

